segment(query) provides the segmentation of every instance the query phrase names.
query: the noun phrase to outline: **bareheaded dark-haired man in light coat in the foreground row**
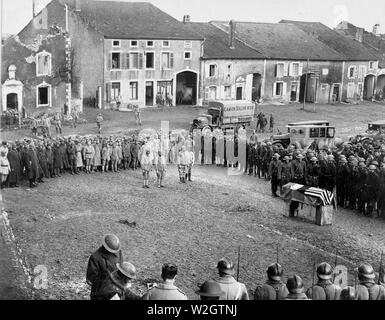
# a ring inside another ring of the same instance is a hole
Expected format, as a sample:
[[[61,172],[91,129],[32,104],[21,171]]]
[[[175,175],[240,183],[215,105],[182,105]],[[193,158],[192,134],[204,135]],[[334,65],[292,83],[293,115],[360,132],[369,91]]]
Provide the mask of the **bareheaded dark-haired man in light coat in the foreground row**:
[[[187,300],[187,296],[175,286],[178,267],[165,264],[162,267],[162,283],[154,284],[143,296],[143,300]]]

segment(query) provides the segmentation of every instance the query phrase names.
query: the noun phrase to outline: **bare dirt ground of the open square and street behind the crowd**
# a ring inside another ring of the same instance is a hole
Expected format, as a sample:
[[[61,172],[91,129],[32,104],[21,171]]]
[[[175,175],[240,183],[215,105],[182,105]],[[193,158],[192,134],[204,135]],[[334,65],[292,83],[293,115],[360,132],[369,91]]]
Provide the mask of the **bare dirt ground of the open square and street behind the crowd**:
[[[364,130],[369,121],[385,118],[385,106],[379,104],[317,106],[316,114],[300,108],[263,106],[263,111],[273,113],[281,131],[290,121],[325,118],[344,136]],[[144,112],[144,127],[157,128],[161,120],[170,120],[171,128],[187,128],[204,109],[172,111]],[[86,117],[93,119],[96,113],[87,110]],[[103,113],[108,134],[135,128],[130,113]],[[65,127],[64,135],[93,130],[96,132],[93,123],[76,130]],[[26,134],[29,132],[5,131],[2,139]],[[151,175],[154,184],[154,172]],[[193,180],[180,185],[176,167],[170,166],[165,189],[153,185],[142,189],[140,171],[122,171],[66,174],[60,180],[46,180],[36,189],[3,190],[3,207],[26,263],[30,270],[37,265],[48,269],[48,289],[36,291],[34,298],[88,299],[88,257],[100,246],[103,234],[110,232],[119,236],[126,260],[137,267],[134,288],[138,293],[144,293],[147,283],[159,281],[163,263],[173,262],[180,270],[177,285],[190,299],[196,299],[197,286],[216,275],[217,261],[224,256],[236,261],[239,246],[240,281],[250,292],[264,281],[266,267],[276,261],[277,245],[285,278],[298,273],[306,286],[312,282],[313,264],[325,260],[334,265],[336,251],[338,264],[349,268],[350,283],[352,268],[359,262],[368,261],[378,270],[381,250],[385,250],[384,220],[340,210],[332,226],[319,227],[283,216],[285,203],[271,197],[266,181],[228,176],[223,168],[213,166],[196,166]],[[120,220],[135,221],[137,227]],[[0,287],[17,288],[12,283],[14,263],[9,263],[9,251],[0,252],[0,256],[0,278],[6,274],[9,280]],[[9,290],[1,292],[10,296]]]

